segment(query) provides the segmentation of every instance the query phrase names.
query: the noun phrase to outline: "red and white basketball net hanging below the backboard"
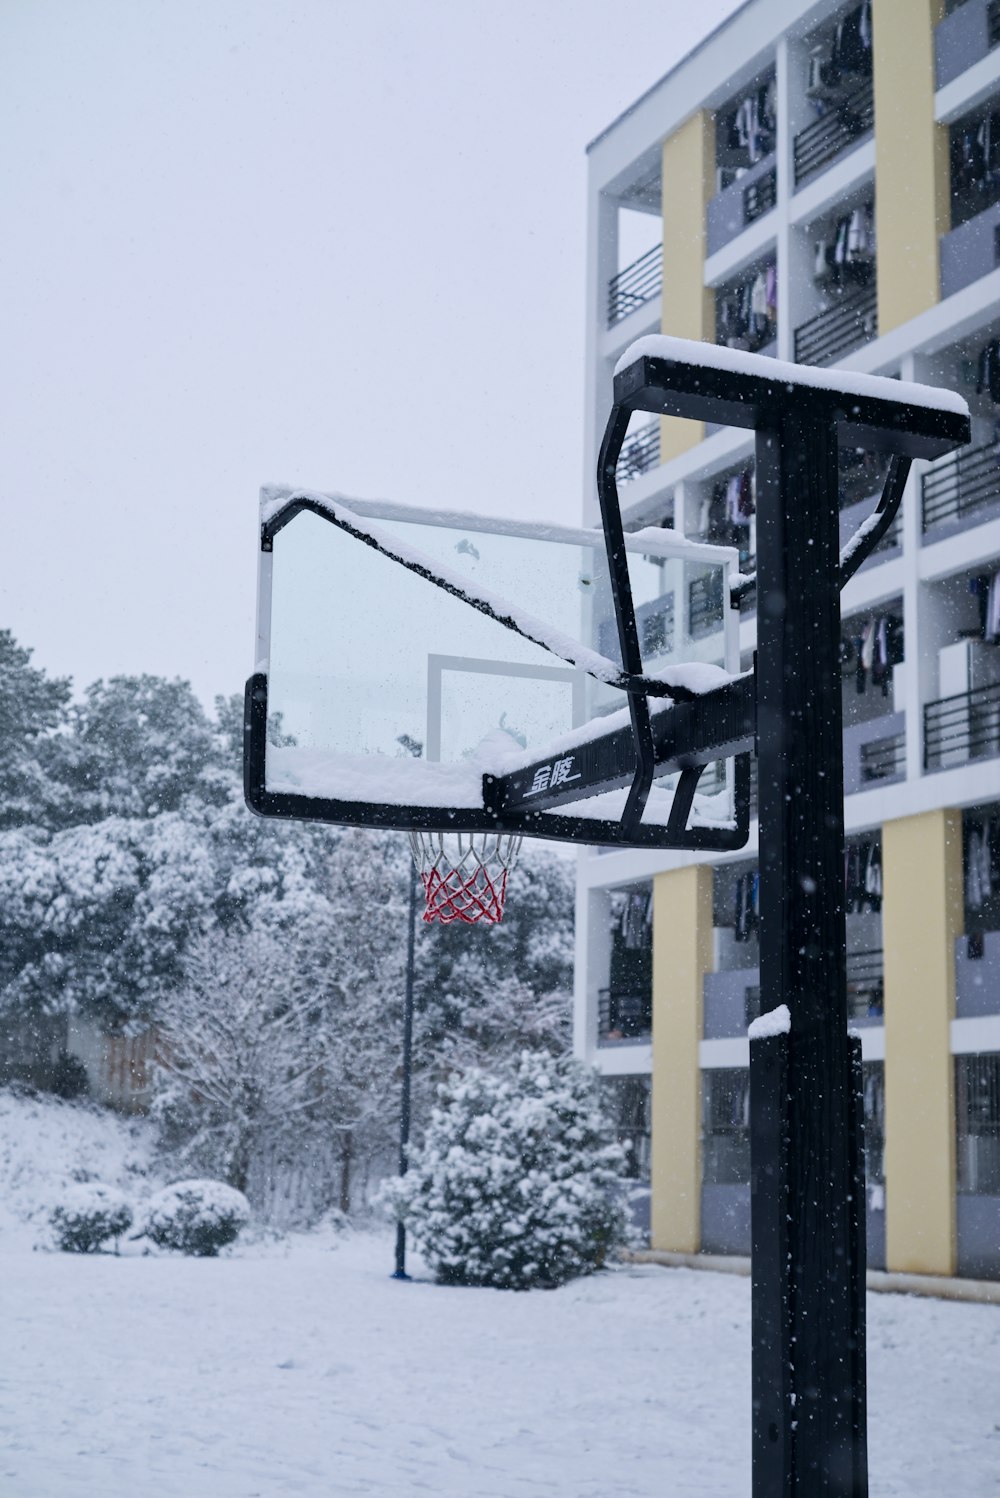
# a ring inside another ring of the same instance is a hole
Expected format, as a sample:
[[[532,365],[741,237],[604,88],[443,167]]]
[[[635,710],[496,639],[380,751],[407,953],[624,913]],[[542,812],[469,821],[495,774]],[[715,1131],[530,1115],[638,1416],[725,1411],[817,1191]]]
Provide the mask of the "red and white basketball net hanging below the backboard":
[[[425,921],[503,920],[507,875],[521,851],[521,837],[509,833],[410,833],[427,909]]]

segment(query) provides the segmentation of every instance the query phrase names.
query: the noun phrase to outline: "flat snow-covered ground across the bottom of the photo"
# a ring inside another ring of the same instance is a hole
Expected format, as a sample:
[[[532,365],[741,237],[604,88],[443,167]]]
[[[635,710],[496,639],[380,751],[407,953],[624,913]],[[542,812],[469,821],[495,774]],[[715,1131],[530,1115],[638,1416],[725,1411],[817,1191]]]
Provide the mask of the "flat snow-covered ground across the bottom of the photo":
[[[1,1125],[0,1110],[0,1186]],[[106,1162],[129,1174],[129,1156]],[[138,1248],[73,1257],[0,1233],[3,1498],[750,1492],[746,1279],[398,1284],[388,1233],[219,1260]],[[871,1492],[1000,1494],[1000,1308],[871,1296],[868,1311]]]

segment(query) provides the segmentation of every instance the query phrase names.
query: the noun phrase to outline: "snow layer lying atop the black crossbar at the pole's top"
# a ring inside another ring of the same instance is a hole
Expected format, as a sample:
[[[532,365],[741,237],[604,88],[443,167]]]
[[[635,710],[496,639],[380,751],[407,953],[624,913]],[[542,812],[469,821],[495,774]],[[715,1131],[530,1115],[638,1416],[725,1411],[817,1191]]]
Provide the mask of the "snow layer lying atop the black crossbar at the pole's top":
[[[656,333],[629,345],[615,364],[615,374],[641,358],[671,360],[675,364],[695,364],[701,369],[725,370],[732,374],[756,374],[769,383],[783,380],[789,385],[807,385],[810,389],[834,391],[838,395],[909,401],[909,404],[924,406],[927,410],[948,410],[957,416],[969,415],[969,403],[961,395],[934,385],[915,385],[910,380],[891,379],[888,374],[859,374],[856,370],[790,364],[787,360],[772,360],[765,354],[746,354],[743,349],[725,349],[716,343],[698,343],[693,339],[674,339]]]

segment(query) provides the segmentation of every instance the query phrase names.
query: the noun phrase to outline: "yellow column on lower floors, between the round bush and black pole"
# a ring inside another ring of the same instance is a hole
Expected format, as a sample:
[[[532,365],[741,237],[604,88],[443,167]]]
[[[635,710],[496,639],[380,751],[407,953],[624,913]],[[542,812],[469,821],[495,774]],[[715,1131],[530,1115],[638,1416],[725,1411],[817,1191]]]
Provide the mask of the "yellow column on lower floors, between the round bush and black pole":
[[[651,1243],[701,1248],[702,981],[711,971],[711,867],[653,881]]]

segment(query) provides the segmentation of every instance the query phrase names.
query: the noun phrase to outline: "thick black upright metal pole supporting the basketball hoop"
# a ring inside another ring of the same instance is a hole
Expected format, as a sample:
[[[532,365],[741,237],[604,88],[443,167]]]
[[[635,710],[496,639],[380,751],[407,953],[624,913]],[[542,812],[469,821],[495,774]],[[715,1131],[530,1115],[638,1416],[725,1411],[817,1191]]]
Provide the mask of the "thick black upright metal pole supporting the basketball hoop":
[[[864,1498],[837,428],[789,412],[756,461],[760,995],[790,1032],[751,1044],[753,1494]]]

